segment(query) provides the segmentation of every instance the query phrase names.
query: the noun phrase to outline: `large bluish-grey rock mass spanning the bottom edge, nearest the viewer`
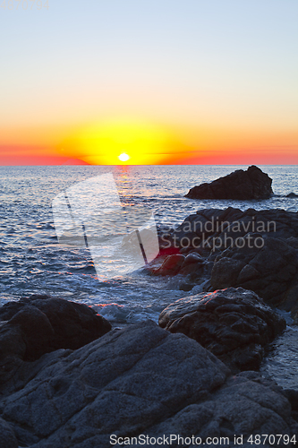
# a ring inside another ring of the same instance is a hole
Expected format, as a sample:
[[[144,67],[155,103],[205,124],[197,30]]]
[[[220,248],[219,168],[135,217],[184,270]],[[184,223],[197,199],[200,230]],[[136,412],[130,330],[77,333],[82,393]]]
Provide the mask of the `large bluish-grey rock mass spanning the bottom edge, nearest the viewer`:
[[[251,372],[231,377],[195,340],[152,322],[23,363],[7,386],[15,384],[0,403],[12,448],[15,438],[31,448],[107,447],[110,435],[226,436],[230,446],[243,435],[248,447],[250,435],[298,431],[275,383]]]

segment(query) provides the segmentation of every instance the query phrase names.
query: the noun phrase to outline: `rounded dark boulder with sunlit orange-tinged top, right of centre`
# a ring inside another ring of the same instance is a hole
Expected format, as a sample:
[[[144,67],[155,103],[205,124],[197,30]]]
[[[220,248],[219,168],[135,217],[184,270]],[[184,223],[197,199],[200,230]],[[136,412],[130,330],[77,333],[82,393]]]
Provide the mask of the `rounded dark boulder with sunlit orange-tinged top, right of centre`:
[[[260,297],[242,288],[181,298],[162,311],[158,323],[197,340],[233,372],[258,369],[264,346],[286,326]]]

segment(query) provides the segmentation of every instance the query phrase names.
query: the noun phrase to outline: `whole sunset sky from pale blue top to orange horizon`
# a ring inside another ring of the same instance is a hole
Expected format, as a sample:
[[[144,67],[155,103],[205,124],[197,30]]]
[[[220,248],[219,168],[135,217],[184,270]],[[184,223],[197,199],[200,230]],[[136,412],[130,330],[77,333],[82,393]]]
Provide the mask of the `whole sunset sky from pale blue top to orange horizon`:
[[[0,6],[0,165],[298,164],[297,0]]]

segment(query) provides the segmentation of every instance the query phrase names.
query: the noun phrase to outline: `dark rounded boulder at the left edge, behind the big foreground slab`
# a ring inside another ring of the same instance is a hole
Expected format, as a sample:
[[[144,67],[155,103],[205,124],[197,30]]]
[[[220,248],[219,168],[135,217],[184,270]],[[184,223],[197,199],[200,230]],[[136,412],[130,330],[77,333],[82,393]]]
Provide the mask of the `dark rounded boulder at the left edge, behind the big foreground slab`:
[[[2,321],[2,322],[1,322]],[[79,349],[111,330],[89,306],[62,298],[31,296],[0,308],[0,378],[56,349]]]

